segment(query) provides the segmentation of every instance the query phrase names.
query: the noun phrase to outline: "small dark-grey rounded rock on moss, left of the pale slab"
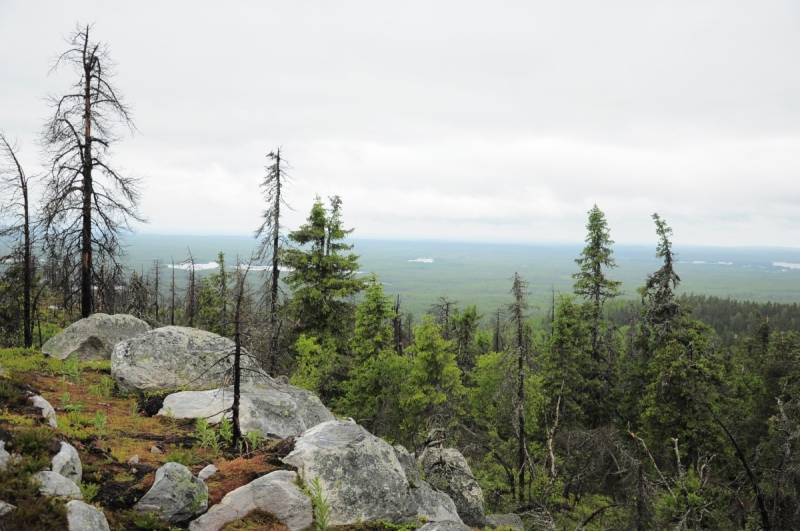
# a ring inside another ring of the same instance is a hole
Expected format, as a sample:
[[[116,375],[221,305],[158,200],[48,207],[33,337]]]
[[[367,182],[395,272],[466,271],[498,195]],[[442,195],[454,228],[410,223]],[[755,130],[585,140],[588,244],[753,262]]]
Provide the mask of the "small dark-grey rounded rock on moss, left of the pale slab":
[[[153,486],[133,508],[157,513],[168,524],[185,522],[208,509],[208,487],[180,463],[156,470]]]

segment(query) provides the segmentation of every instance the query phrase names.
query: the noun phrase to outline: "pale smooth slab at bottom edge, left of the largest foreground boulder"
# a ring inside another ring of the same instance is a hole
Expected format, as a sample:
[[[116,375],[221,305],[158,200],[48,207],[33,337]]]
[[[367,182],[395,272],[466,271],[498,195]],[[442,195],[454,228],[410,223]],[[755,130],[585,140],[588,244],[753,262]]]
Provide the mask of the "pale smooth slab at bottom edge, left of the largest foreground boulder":
[[[297,473],[278,470],[239,487],[189,524],[189,531],[217,531],[260,509],[274,514],[291,531],[311,525],[311,500],[295,484]]]

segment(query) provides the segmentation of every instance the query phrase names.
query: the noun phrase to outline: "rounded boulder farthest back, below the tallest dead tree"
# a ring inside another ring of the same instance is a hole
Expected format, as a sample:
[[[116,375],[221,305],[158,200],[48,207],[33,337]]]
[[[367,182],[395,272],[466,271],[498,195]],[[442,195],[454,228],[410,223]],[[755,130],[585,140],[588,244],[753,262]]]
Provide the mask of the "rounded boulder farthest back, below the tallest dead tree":
[[[132,315],[96,313],[51,337],[42,345],[42,352],[60,360],[73,352],[80,361],[107,360],[117,343],[148,330],[150,325]]]

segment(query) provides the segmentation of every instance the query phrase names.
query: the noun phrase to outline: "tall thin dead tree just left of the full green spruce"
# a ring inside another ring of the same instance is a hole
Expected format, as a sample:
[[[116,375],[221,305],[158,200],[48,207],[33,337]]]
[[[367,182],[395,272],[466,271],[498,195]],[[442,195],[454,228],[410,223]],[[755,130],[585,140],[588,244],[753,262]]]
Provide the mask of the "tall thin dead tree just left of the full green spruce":
[[[264,219],[256,230],[255,237],[262,238],[256,252],[256,260],[268,259],[271,265],[267,279],[267,319],[269,330],[269,367],[270,374],[275,374],[278,358],[278,341],[280,327],[278,326],[278,297],[280,295],[280,252],[283,245],[281,235],[281,207],[291,208],[283,199],[283,186],[289,176],[286,174],[288,164],[281,159],[280,148],[267,155],[270,165],[266,167],[267,175],[261,183],[264,189],[264,200],[267,208],[261,217]]]

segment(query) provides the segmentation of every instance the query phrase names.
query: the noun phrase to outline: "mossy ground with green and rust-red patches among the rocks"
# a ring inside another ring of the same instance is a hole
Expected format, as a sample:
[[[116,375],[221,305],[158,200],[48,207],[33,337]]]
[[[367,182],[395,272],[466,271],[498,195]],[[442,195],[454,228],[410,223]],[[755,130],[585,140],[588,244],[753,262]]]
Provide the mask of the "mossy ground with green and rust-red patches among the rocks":
[[[67,528],[64,501],[39,495],[31,480],[31,474],[49,466],[60,441],[78,450],[84,501],[104,511],[112,531],[170,529],[132,510],[168,461],[193,473],[212,463],[219,468],[206,480],[212,505],[231,490],[285,468],[266,441],[254,451],[230,451],[217,431],[216,444],[201,444],[194,421],[153,416],[161,397],[119,395],[109,362],[60,361],[35,350],[0,349],[0,366],[0,440],[21,455],[8,471],[0,471],[0,500],[17,507],[0,517],[4,531]],[[31,406],[26,396],[31,392],[52,404],[58,428],[47,426]],[[129,462],[134,456],[138,462]],[[236,525],[229,529],[284,529],[265,514],[248,515]]]

